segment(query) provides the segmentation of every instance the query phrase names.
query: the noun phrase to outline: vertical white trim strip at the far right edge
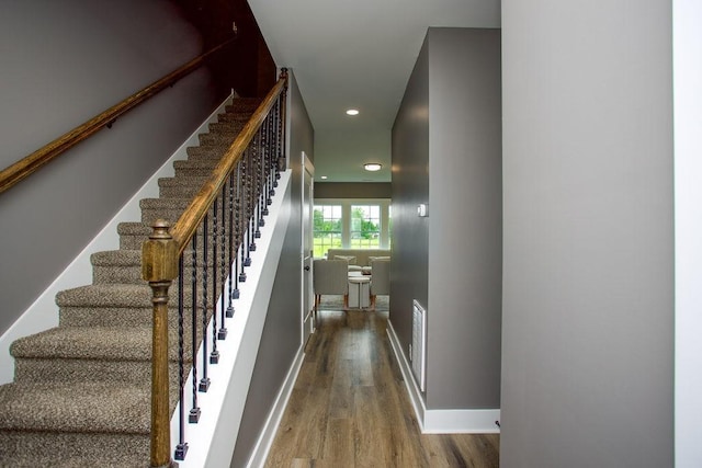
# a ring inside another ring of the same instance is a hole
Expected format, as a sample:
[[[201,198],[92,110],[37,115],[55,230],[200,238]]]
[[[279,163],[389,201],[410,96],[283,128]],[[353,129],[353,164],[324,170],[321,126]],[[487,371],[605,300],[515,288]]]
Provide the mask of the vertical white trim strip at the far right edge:
[[[702,466],[702,3],[673,0],[675,466]]]

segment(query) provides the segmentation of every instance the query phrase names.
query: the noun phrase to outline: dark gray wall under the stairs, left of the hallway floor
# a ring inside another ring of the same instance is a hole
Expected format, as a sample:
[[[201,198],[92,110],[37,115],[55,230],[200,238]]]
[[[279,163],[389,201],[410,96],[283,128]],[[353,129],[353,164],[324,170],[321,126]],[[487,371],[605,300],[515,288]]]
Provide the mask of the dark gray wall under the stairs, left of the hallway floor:
[[[314,153],[314,129],[292,72],[290,93],[290,159],[293,173],[291,197],[285,201],[285,213],[286,216],[290,216],[290,224],[287,225],[283,251],[278,273],[275,274],[273,294],[269,305],[261,344],[259,345],[259,354],[256,359],[239,436],[230,464],[231,467],[246,466],[249,460],[302,341],[301,152],[305,151],[312,159]]]

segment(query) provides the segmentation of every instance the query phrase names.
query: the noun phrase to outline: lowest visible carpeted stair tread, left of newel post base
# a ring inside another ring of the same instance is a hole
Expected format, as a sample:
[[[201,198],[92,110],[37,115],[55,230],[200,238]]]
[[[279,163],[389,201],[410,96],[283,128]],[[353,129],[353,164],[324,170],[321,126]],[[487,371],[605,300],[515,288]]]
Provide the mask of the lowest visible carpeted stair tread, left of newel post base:
[[[0,386],[0,430],[148,434],[150,388],[110,383]]]

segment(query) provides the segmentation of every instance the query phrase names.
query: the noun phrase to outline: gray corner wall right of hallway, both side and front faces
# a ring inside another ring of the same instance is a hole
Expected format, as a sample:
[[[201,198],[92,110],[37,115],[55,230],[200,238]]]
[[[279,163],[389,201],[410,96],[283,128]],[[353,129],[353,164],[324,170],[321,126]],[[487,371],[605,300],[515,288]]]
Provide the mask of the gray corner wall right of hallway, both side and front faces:
[[[428,409],[499,408],[500,106],[499,31],[430,28],[393,129],[390,303],[406,353],[427,307]]]

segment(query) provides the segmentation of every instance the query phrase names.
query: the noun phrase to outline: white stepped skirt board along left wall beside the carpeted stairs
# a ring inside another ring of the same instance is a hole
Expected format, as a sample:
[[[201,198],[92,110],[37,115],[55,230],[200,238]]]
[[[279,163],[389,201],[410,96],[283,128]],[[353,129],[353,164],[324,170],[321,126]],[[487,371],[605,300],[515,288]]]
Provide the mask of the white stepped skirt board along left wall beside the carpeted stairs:
[[[0,336],[0,384],[9,384],[14,377],[14,358],[10,355],[10,345],[15,340],[38,333],[58,326],[58,307],[56,295],[66,289],[92,284],[92,265],[90,255],[95,252],[116,250],[120,248],[117,225],[141,219],[139,201],[156,198],[159,195],[158,180],[174,174],[173,161],[188,159],[186,148],[197,146],[197,135],[207,132],[212,122],[217,122],[217,114],[224,112],[231,102],[229,95],[207,117],[206,121],[171,155],[161,168],[139,189],[139,191],[120,209],[104,228],[86,246],[61,274],[38,296],[38,298],[20,316],[20,318]]]

